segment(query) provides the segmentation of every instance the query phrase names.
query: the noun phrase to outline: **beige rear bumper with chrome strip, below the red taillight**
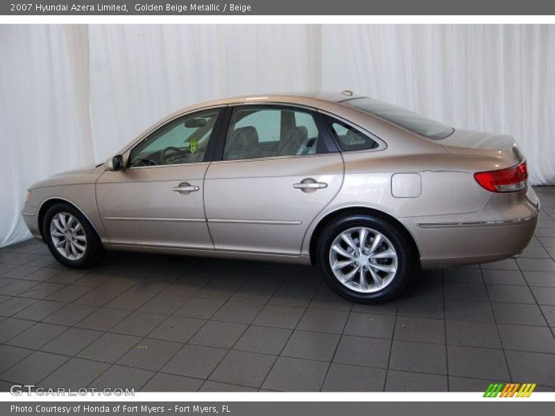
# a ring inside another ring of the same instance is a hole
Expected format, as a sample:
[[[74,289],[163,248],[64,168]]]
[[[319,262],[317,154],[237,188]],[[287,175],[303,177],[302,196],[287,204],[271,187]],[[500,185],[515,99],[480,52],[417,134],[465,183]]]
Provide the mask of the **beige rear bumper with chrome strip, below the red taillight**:
[[[488,205],[489,209],[485,209]],[[538,223],[540,203],[536,194],[529,189],[519,204],[497,211],[493,219],[490,209],[495,205],[495,201],[488,202],[482,214],[474,218],[412,220],[409,229],[420,250],[420,266],[463,266],[520,254],[532,239]]]

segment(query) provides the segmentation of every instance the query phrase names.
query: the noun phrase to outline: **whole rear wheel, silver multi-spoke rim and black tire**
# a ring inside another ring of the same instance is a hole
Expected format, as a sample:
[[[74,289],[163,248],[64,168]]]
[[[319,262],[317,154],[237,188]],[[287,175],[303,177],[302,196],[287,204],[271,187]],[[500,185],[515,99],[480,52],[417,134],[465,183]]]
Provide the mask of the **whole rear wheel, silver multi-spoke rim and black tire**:
[[[364,245],[359,245],[361,238],[366,240]],[[367,214],[351,214],[323,229],[316,261],[336,293],[353,302],[373,304],[391,300],[402,291],[411,274],[413,254],[398,225]]]

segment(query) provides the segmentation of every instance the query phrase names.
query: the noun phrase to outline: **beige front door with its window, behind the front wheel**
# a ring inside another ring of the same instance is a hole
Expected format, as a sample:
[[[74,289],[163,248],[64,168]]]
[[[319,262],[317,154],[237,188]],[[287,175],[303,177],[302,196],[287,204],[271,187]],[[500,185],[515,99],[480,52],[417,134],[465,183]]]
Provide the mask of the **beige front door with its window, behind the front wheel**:
[[[213,250],[203,180],[221,112],[169,121],[126,153],[126,169],[101,175],[96,200],[112,244]]]

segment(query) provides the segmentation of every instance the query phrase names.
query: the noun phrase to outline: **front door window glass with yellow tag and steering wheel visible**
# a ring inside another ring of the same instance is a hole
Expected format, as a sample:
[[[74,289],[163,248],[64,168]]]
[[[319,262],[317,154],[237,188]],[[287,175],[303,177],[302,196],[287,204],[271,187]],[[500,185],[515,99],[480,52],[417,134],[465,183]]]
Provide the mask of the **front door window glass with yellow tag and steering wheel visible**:
[[[141,141],[129,166],[158,166],[203,162],[219,109],[187,114],[170,121]]]

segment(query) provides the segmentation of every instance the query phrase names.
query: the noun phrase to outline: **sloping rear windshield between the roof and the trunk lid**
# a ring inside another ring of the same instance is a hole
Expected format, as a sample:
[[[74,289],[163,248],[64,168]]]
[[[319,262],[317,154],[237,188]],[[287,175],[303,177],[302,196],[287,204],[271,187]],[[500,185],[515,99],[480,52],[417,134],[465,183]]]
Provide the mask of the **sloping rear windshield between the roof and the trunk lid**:
[[[416,112],[374,98],[353,98],[352,100],[343,101],[342,104],[373,114],[427,139],[445,139],[454,132],[454,128],[438,121],[427,119]]]

